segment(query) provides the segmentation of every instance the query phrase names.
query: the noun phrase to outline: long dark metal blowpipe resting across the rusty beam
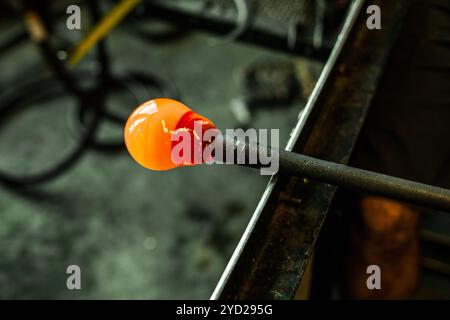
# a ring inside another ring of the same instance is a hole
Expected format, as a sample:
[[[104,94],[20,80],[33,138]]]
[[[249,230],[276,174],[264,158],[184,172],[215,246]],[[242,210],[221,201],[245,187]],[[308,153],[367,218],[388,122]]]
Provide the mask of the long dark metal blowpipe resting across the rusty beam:
[[[245,153],[246,163],[238,163],[239,165],[260,168],[262,167],[259,160],[261,158],[260,155],[268,155],[272,159],[276,159],[278,156],[279,170],[282,173],[289,173],[450,213],[450,190],[447,189],[353,168],[294,152],[254,143],[243,143],[236,141],[232,137],[224,139],[224,147],[226,153],[235,153],[234,159],[237,159],[237,154]],[[250,155],[256,155],[256,164],[247,163]]]

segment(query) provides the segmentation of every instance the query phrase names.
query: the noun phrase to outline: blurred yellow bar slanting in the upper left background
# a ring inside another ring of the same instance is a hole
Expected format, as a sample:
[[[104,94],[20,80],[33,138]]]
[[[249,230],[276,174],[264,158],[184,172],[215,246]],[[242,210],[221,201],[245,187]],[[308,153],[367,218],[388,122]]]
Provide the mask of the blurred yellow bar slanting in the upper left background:
[[[78,43],[71,51],[69,65],[75,66],[89,50],[102,40],[131,10],[139,4],[140,0],[122,0]]]

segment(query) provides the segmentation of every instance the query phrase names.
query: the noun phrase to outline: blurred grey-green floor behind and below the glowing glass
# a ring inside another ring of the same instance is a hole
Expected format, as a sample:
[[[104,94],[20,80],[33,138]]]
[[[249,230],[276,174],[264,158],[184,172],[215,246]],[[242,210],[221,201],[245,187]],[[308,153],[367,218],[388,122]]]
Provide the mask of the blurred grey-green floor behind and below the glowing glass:
[[[291,57],[236,43],[210,47],[208,39],[196,33],[152,45],[119,29],[108,45],[116,71],[157,72],[185,104],[221,129],[234,128],[229,105],[240,90],[239,71]],[[88,60],[83,66],[95,69]],[[32,44],[0,59],[2,92],[35,66],[48,72]],[[320,65],[313,69],[317,75]],[[147,89],[138,100],[153,97]],[[136,106],[127,95],[114,99],[123,114]],[[303,105],[258,111],[252,126],[279,128],[284,145]],[[0,169],[30,172],[67,152],[76,141],[68,125],[74,106],[60,97],[8,120],[0,127]],[[121,132],[105,122],[100,135]],[[267,181],[233,166],[151,172],[125,152],[89,151],[33,192],[0,187],[0,298],[208,298]],[[80,291],[66,288],[71,264],[81,268]]]

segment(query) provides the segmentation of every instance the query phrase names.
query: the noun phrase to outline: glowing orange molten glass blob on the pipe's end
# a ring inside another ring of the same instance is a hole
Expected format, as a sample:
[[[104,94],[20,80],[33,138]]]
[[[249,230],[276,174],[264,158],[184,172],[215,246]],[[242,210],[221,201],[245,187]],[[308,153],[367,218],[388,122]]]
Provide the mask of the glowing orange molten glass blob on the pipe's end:
[[[210,160],[203,156],[203,150],[210,143],[203,141],[208,129],[216,130],[216,127],[181,102],[153,99],[137,107],[128,118],[125,145],[143,167],[169,170]],[[188,143],[188,147],[179,148],[182,142],[184,146]]]

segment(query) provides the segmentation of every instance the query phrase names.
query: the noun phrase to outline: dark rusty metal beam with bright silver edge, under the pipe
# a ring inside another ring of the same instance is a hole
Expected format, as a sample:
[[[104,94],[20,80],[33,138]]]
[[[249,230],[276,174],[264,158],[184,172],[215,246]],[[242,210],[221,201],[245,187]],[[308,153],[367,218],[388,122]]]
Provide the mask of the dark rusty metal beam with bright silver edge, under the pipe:
[[[407,0],[355,0],[287,150],[346,164],[401,28]],[[382,9],[382,29],[366,7]],[[270,180],[211,299],[291,299],[337,187],[279,175]]]

